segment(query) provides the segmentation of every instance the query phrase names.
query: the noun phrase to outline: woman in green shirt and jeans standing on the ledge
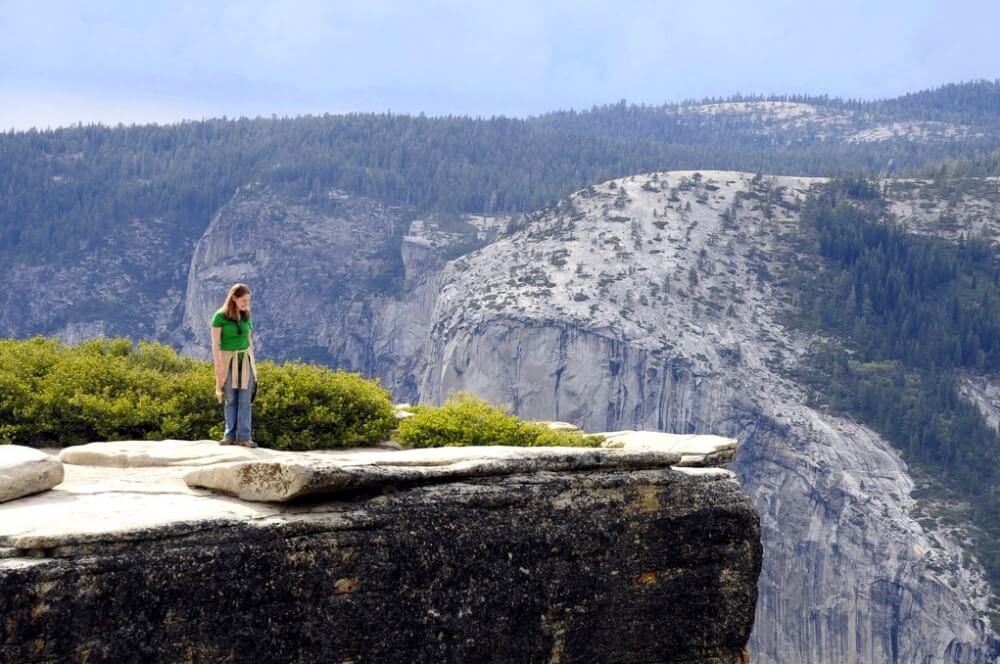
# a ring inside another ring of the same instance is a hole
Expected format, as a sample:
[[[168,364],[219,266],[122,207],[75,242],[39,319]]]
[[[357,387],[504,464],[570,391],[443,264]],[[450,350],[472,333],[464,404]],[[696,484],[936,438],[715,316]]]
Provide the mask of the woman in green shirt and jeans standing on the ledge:
[[[235,284],[212,318],[212,359],[215,395],[225,396],[226,432],[220,445],[257,447],[250,436],[250,400],[257,382],[253,357],[250,289]]]

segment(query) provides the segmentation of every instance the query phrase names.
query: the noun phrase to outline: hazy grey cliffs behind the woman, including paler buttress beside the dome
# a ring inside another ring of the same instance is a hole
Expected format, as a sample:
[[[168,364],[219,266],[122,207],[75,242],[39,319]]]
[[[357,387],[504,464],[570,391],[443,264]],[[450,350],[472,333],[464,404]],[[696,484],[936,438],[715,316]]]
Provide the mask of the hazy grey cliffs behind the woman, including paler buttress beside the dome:
[[[412,216],[333,190],[300,201],[240,188],[195,243],[177,343],[209,357],[212,314],[243,281],[254,292],[261,357],[377,375],[397,398],[415,400],[438,273],[450,253],[491,239],[505,220],[469,216],[447,230]]]

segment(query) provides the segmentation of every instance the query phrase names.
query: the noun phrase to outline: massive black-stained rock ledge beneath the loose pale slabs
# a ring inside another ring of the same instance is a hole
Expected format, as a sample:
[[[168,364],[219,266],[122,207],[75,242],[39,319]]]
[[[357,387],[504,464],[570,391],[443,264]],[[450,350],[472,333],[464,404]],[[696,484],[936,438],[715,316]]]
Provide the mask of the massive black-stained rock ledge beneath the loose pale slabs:
[[[274,504],[67,468],[0,506],[0,661],[744,661],[761,549],[727,474],[512,467]]]

